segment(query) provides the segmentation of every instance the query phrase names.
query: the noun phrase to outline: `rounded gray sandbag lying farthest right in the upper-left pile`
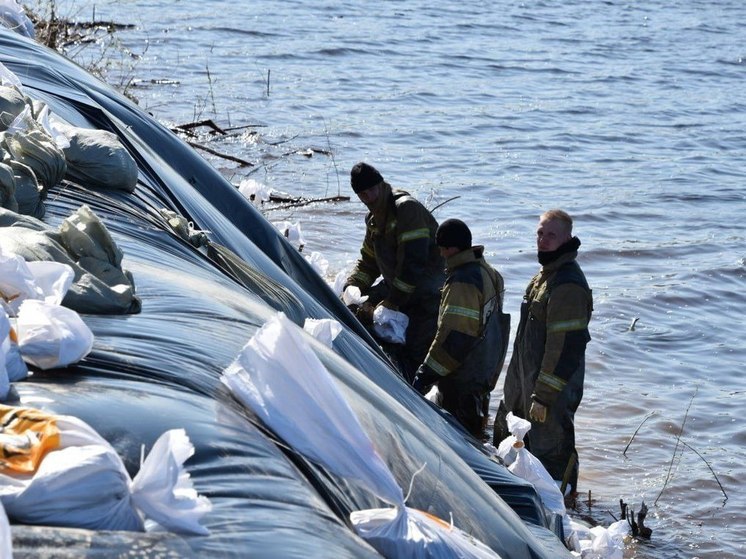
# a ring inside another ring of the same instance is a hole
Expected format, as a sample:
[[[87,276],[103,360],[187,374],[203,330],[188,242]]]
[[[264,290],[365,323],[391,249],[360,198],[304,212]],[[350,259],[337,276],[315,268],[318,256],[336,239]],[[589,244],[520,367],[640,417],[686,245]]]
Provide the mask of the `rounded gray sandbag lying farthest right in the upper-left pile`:
[[[85,187],[135,191],[137,163],[116,134],[75,126],[61,130],[70,141],[63,150],[67,178]]]

